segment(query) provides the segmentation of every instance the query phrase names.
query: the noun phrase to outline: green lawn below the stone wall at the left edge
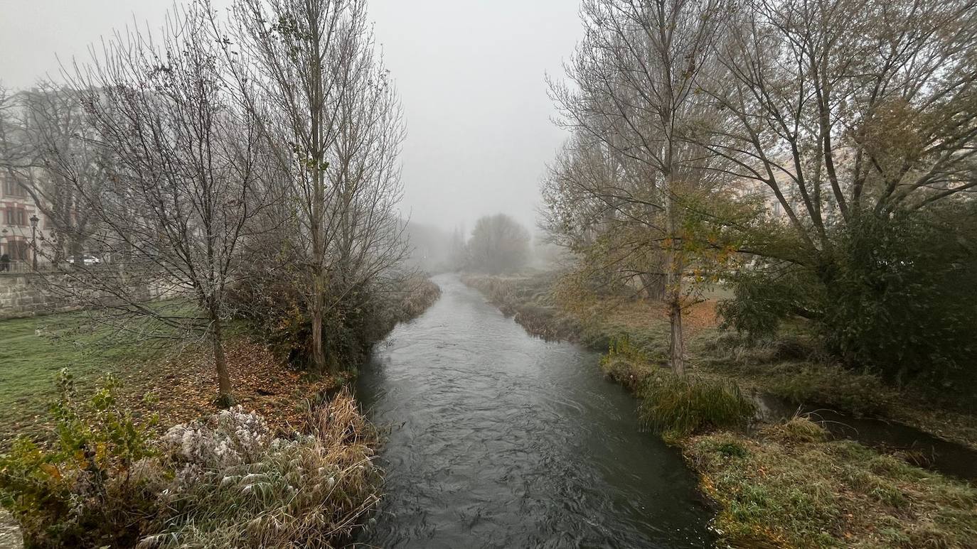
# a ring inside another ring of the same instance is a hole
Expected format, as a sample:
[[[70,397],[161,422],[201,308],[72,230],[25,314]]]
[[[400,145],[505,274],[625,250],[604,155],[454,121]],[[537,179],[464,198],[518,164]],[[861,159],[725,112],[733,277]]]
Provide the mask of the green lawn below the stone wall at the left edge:
[[[85,388],[151,353],[145,344],[113,341],[82,314],[0,321],[0,449],[46,421],[61,369]]]

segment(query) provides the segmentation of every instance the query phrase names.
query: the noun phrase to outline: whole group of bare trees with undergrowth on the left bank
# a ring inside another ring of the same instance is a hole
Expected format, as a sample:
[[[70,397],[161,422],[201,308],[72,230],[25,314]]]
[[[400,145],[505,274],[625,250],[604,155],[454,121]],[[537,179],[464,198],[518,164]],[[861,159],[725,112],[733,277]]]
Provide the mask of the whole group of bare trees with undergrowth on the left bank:
[[[401,103],[365,2],[191,0],[92,52],[0,107],[50,291],[134,336],[208,341],[224,403],[232,318],[322,373],[361,352],[407,253]]]

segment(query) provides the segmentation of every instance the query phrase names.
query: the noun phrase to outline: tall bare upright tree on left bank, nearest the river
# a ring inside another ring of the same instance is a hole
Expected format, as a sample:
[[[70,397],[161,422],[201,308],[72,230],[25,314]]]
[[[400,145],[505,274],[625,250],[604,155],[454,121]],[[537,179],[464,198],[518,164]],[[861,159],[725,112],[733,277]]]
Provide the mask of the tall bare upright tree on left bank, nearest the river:
[[[238,82],[257,91],[244,104],[261,111],[288,175],[288,248],[298,267],[289,279],[312,319],[313,362],[325,371],[325,313],[406,253],[393,213],[402,192],[399,98],[362,0],[240,0],[234,20]]]

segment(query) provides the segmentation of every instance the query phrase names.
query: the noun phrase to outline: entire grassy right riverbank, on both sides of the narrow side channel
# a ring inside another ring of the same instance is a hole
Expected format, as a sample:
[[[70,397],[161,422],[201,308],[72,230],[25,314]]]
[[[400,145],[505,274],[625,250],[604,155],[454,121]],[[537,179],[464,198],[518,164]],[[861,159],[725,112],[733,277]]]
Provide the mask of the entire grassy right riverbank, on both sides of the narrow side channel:
[[[934,406],[924,392],[897,391],[871,374],[844,370],[803,333],[744,345],[717,330],[709,301],[687,313],[690,373],[677,379],[661,368],[668,349],[663,311],[606,299],[564,308],[551,292],[555,280],[550,274],[464,278],[530,333],[607,351],[602,370],[635,392],[644,423],[679,446],[701,475],[727,543],[977,547],[972,485],[915,467],[909,454],[828,440],[825,429],[803,418],[749,430],[752,413],[741,388],[901,419],[974,447],[972,415]]]

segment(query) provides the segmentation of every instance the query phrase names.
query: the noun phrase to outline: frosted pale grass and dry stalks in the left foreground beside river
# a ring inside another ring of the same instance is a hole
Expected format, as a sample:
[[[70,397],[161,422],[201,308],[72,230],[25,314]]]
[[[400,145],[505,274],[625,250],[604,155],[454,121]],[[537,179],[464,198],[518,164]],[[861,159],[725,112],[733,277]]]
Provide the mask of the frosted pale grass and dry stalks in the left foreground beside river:
[[[379,498],[375,438],[352,397],[316,412],[309,434],[272,439],[264,421],[222,412],[162,439],[178,471],[163,520],[139,547],[333,547]]]

